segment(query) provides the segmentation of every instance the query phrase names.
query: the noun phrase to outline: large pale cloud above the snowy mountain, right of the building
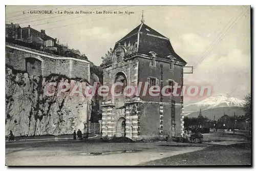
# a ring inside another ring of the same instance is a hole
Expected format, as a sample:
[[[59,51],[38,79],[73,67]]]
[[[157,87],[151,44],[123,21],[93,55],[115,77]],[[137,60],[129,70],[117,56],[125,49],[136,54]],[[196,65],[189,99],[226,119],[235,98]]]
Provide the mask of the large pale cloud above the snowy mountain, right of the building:
[[[243,98],[250,91],[250,55],[231,49],[227,55],[211,54],[194,70],[185,75],[185,82],[210,84],[214,93],[230,93]]]

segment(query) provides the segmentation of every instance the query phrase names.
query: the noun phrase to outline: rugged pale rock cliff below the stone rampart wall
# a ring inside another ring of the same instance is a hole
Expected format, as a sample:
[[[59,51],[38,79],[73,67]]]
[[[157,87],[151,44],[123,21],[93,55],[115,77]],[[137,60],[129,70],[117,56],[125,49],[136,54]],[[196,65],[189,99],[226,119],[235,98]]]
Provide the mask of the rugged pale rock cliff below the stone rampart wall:
[[[6,135],[14,136],[72,134],[84,130],[87,110],[91,117],[93,99],[80,99],[69,92],[49,97],[44,89],[49,82],[87,83],[61,75],[37,77],[6,67]],[[87,104],[89,104],[87,109]]]

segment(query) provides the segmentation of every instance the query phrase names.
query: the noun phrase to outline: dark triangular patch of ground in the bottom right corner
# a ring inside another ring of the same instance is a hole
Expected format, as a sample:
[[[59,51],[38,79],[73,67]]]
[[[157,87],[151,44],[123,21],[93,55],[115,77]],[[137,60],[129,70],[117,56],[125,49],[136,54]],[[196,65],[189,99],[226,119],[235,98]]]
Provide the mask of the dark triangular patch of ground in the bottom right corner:
[[[176,155],[140,165],[250,165],[251,143],[213,145],[200,151]]]

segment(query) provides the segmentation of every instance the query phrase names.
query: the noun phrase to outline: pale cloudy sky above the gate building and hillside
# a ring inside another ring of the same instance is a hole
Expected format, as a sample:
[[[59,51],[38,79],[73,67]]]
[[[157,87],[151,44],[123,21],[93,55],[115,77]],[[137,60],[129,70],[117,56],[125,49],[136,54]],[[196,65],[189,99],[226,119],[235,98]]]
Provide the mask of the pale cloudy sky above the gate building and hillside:
[[[30,14],[30,10],[54,14]],[[65,10],[74,14],[58,14]],[[60,44],[80,50],[100,65],[101,56],[140,24],[142,10],[145,24],[168,37],[187,66],[194,66],[193,74],[184,74],[184,84],[211,85],[212,94],[241,99],[250,92],[249,6],[7,6],[6,23],[44,29]]]

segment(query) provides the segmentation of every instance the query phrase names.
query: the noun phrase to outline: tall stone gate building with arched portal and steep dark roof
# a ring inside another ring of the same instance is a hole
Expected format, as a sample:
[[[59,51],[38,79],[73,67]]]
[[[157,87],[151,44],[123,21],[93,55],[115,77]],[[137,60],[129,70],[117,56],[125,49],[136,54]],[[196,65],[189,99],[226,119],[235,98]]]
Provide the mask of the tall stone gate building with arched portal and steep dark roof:
[[[141,24],[116,42],[103,62],[103,84],[116,87],[120,96],[103,97],[102,137],[125,136],[133,140],[181,136],[184,131],[183,96],[173,96],[173,89],[166,89],[169,96],[143,95],[143,87],[183,85],[183,67],[186,62],[175,53],[167,37]],[[126,86],[139,87],[140,93],[124,95]]]

